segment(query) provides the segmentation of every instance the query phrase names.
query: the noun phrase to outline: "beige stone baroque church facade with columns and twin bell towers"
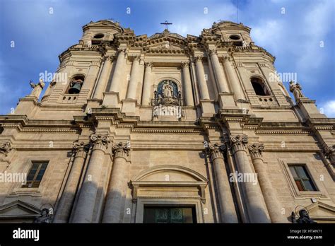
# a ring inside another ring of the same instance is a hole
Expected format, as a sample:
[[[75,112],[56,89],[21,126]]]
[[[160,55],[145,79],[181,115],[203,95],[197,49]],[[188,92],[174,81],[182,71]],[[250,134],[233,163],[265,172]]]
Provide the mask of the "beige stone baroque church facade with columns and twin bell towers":
[[[0,116],[0,172],[26,175],[0,222],[334,223],[335,119],[250,31],[84,25],[41,99],[43,80]]]

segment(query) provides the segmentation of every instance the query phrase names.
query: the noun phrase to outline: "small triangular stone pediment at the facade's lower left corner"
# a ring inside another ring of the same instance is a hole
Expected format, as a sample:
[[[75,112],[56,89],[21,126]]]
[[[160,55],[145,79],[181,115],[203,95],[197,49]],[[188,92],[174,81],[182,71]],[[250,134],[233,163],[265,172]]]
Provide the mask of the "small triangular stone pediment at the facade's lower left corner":
[[[37,216],[40,216],[40,209],[24,201],[12,201],[0,206],[0,218],[35,218]]]

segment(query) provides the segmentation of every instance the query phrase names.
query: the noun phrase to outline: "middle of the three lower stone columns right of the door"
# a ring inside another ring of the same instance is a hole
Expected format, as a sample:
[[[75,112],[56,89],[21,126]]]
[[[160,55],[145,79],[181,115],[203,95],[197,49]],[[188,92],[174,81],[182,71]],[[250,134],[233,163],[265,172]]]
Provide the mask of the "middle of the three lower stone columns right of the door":
[[[247,135],[237,135],[230,137],[230,142],[233,149],[233,155],[235,162],[237,164],[237,170],[239,175],[255,175],[252,167],[249,163],[249,158],[247,156]],[[247,180],[242,180],[242,188],[245,194],[245,199],[247,201],[247,212],[249,215],[250,223],[270,223],[267,214],[266,207],[263,203],[263,198],[261,194],[261,188],[259,187],[257,178],[257,184],[247,182]]]

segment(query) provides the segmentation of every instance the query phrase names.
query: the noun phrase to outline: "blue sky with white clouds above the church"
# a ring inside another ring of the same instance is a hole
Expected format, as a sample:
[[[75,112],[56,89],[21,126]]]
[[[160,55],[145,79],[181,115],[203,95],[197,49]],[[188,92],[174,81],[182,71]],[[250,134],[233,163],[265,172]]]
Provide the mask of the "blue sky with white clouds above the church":
[[[276,57],[277,71],[296,73],[303,93],[335,117],[334,12],[334,0],[0,0],[0,115],[30,93],[30,79],[56,71],[58,55],[78,42],[83,25],[113,18],[136,35],[162,32],[165,20],[184,36],[218,20],[242,22]]]

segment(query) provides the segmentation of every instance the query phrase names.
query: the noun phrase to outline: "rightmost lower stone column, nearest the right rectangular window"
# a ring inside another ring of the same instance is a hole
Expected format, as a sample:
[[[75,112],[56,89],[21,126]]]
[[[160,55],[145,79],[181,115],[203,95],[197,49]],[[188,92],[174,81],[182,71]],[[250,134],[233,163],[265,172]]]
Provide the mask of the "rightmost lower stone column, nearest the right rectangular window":
[[[266,208],[269,211],[271,221],[273,223],[284,223],[283,216],[281,215],[281,205],[276,197],[276,191],[271,185],[269,175],[266,172],[266,166],[263,163],[261,151],[264,150],[263,144],[252,144],[248,146],[249,153],[254,164],[254,170],[257,172],[259,185],[264,197]],[[287,221],[286,221],[287,222]]]

